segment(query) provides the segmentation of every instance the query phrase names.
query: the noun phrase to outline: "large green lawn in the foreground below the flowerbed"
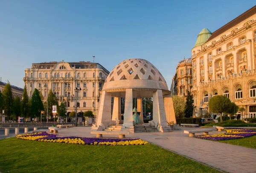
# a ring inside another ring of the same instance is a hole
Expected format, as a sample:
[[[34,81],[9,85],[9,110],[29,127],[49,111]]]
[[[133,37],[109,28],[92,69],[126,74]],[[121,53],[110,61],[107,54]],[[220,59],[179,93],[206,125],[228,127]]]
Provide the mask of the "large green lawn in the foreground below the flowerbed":
[[[16,138],[0,140],[0,171],[3,173],[218,172],[153,144],[93,146]]]

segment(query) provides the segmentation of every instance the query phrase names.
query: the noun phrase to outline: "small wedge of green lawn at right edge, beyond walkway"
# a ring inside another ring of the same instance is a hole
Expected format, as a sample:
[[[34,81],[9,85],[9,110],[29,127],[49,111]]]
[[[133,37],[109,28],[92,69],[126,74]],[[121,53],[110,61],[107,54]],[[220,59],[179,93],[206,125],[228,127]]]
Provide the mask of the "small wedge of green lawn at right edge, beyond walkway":
[[[250,129],[250,130],[256,130],[256,129]],[[242,138],[242,139],[220,141],[220,142],[232,144],[232,145],[239,145],[239,146],[248,147],[248,148],[256,148],[256,136],[251,136],[251,137]]]

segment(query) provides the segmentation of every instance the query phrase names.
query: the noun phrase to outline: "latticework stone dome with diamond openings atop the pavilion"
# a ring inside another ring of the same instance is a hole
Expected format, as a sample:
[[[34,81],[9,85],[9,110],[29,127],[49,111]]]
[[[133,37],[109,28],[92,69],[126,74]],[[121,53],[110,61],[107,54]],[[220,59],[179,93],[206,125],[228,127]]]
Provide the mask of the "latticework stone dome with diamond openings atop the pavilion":
[[[147,88],[168,90],[163,75],[150,62],[127,59],[119,63],[108,75],[102,90],[117,88]]]

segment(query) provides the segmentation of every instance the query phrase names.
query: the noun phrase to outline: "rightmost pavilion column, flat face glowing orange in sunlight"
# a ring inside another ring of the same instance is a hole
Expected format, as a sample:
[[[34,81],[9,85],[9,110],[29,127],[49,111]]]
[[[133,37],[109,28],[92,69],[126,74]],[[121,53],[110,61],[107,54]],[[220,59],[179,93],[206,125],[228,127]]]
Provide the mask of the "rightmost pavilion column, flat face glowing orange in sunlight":
[[[166,112],[166,121],[176,124],[175,112],[173,107],[172,95],[165,95],[164,97],[164,110]]]

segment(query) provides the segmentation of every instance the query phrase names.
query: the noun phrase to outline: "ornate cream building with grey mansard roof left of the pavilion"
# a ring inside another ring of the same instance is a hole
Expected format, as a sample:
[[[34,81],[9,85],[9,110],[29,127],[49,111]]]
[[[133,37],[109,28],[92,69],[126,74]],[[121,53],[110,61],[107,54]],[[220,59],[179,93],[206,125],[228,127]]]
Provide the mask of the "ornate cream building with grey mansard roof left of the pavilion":
[[[99,63],[84,62],[44,62],[32,63],[31,69],[25,69],[25,78],[28,96],[31,97],[35,88],[42,92],[47,101],[48,92],[56,96],[59,104],[64,102],[67,114],[75,111],[75,88],[81,88],[77,92],[77,112],[91,110],[98,111],[100,91],[108,70]]]

